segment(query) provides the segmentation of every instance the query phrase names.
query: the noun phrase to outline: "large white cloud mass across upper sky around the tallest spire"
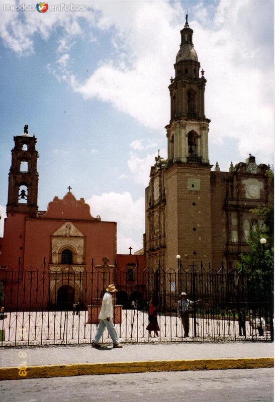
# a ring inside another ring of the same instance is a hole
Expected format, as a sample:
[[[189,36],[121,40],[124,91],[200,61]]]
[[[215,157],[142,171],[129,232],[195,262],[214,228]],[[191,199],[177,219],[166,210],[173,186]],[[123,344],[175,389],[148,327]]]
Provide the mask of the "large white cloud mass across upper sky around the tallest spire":
[[[32,4],[31,0],[26,4]],[[47,39],[53,30],[61,27],[64,36],[58,41],[57,50],[66,53],[58,59],[57,69],[48,65],[57,79],[66,81],[84,98],[109,102],[145,127],[164,133],[163,127],[169,122],[168,79],[174,74],[179,30],[185,21],[182,4],[100,0],[95,0],[93,5],[84,0],[83,4],[88,10],[85,13],[51,12],[47,18],[38,13],[1,11],[0,36],[18,54],[28,54],[34,50],[34,34]],[[250,142],[253,152],[270,160],[272,1],[262,0],[260,9],[257,6],[256,0],[201,1],[191,8],[189,14],[194,21],[189,17],[189,23],[208,80],[205,105],[206,115],[212,120],[210,145],[211,141],[222,143],[226,137],[234,138],[239,157],[244,158],[250,151],[246,149]],[[83,36],[80,26],[83,20],[90,24],[91,31],[97,29],[90,32],[93,41],[97,39],[96,33],[110,33],[112,28],[111,43],[115,52],[108,56],[103,53],[98,67],[80,82],[66,67],[74,43],[71,38]],[[145,149],[142,142],[133,142],[131,146],[136,150]]]

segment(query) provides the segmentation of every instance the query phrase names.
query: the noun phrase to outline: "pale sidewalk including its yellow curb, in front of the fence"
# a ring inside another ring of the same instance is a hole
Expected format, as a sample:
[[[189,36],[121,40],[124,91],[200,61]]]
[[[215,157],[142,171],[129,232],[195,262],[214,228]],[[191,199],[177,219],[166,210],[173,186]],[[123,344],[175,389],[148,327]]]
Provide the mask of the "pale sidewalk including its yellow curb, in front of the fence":
[[[0,379],[273,366],[273,343],[127,343],[1,348]]]

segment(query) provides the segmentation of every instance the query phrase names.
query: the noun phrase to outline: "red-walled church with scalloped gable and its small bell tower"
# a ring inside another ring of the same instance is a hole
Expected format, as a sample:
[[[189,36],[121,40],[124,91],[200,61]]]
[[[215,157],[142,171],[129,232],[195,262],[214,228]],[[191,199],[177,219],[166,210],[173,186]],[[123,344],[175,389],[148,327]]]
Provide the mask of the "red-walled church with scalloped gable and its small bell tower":
[[[139,272],[145,269],[145,256],[132,254],[131,247],[129,254],[117,254],[116,222],[91,216],[89,205],[83,198],[76,199],[70,186],[63,198],[54,197],[47,211],[38,210],[36,142],[26,126],[24,134],[14,137],[7,218],[0,238],[6,307],[26,303],[24,297],[19,302],[12,296],[17,277],[17,293],[29,294],[29,305],[36,307],[91,304],[102,297],[109,283],[120,284],[123,302],[141,299],[144,286]],[[33,292],[30,283],[35,286]]]

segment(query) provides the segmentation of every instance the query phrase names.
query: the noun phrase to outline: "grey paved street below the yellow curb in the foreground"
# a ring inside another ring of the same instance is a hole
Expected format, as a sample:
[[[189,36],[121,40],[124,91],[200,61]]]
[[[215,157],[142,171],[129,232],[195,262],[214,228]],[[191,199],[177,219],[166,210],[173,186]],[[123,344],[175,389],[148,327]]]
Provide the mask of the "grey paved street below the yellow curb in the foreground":
[[[0,387],[1,402],[272,402],[273,369],[54,377]]]

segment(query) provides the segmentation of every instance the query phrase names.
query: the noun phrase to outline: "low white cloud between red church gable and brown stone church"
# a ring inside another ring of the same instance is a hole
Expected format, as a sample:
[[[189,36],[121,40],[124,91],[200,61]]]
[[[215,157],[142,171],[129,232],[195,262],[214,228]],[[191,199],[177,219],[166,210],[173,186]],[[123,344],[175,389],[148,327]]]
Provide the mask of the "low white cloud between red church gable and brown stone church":
[[[123,193],[112,191],[93,195],[86,200],[86,203],[90,205],[91,215],[100,215],[102,221],[118,223],[118,253],[129,253],[130,246],[134,248],[134,251],[142,248],[140,234],[145,230],[144,197],[134,201],[127,191]]]

